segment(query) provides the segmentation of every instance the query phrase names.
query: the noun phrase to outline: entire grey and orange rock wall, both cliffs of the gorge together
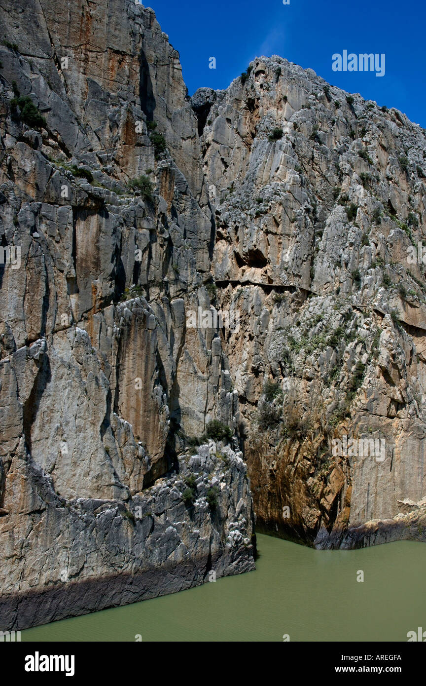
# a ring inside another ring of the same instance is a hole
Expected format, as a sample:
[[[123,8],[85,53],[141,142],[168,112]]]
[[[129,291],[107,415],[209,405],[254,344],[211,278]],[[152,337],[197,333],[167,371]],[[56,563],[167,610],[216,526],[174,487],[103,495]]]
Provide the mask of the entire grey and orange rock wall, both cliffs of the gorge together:
[[[250,482],[425,540],[425,132],[275,56],[190,99],[130,1],[0,16],[0,626],[254,569]]]

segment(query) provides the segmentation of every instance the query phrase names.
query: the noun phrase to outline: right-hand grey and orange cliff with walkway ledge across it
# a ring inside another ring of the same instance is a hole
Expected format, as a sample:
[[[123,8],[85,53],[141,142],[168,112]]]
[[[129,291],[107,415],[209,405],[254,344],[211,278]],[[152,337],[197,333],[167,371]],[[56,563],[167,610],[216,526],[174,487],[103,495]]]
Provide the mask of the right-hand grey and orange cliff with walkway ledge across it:
[[[426,540],[425,130],[279,57],[194,103],[258,526]]]

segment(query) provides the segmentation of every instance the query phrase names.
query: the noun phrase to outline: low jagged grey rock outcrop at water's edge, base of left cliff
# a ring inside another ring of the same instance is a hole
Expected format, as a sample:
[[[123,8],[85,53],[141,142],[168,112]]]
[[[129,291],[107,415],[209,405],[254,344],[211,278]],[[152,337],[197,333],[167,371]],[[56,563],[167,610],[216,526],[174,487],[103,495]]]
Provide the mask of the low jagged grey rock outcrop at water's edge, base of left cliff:
[[[2,575],[1,622],[25,628],[253,569],[241,453],[213,442],[198,451],[199,458],[179,459],[178,474],[124,501],[60,497],[55,479],[21,445],[8,475],[13,508],[2,517],[1,535],[6,563],[24,563],[25,575],[18,593],[14,575]],[[190,504],[182,499],[187,483]]]

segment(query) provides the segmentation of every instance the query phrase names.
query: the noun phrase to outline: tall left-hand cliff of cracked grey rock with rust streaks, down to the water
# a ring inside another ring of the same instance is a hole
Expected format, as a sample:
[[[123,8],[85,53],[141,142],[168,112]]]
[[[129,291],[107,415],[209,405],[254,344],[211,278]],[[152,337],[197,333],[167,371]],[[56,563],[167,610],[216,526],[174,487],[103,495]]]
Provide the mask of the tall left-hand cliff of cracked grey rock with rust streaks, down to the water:
[[[178,55],[123,0],[1,21],[0,626],[25,628],[254,569],[254,534],[220,332],[186,327],[212,212]],[[214,419],[236,451],[189,447]]]

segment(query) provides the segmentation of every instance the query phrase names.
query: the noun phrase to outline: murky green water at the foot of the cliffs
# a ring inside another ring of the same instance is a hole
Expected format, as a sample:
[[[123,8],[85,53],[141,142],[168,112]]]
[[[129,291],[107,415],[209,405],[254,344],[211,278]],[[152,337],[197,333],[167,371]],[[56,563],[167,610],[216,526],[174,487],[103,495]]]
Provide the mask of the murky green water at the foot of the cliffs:
[[[423,543],[318,551],[258,535],[258,549],[256,571],[28,629],[22,641],[407,641],[426,630]]]

